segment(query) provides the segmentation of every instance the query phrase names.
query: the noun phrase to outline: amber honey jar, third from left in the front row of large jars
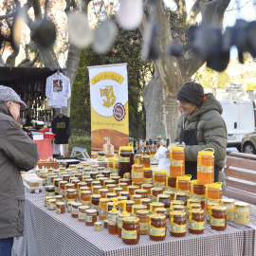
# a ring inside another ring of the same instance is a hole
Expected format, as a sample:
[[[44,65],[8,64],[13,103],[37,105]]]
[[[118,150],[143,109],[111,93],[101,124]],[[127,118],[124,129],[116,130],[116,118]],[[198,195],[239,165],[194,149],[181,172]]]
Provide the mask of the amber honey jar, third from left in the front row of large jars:
[[[170,213],[170,233],[174,237],[185,236],[187,232],[186,212],[171,211]]]

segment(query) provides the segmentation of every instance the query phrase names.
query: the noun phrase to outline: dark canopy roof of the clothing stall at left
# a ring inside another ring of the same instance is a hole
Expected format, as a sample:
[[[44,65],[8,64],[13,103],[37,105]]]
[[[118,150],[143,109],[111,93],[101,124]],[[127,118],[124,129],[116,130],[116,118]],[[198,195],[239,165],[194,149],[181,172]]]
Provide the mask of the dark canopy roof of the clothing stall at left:
[[[46,81],[60,67],[0,67],[0,84],[12,85],[13,83],[27,83],[36,80]]]

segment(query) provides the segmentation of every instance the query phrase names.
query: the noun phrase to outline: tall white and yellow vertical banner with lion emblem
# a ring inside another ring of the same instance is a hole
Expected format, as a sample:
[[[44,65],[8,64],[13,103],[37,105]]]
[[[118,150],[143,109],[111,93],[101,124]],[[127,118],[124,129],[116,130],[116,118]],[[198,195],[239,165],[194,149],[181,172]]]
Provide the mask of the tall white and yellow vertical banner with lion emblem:
[[[127,64],[88,66],[91,95],[91,150],[106,156],[129,142]]]

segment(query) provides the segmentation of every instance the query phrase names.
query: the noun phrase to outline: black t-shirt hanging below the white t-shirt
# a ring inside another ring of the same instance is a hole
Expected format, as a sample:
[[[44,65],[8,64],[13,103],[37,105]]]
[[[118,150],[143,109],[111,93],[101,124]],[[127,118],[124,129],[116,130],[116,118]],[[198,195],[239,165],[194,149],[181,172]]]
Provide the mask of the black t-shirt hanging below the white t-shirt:
[[[59,115],[51,122],[52,132],[55,136],[55,144],[68,144],[71,134],[70,119],[64,115]]]

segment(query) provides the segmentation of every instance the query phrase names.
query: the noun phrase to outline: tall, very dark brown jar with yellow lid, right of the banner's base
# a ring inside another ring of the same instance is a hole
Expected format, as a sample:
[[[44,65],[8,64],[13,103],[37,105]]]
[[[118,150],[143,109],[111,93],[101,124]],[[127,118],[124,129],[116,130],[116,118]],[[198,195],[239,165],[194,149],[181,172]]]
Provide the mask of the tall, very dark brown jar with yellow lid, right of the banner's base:
[[[119,176],[132,172],[134,164],[134,151],[132,147],[119,147]]]

